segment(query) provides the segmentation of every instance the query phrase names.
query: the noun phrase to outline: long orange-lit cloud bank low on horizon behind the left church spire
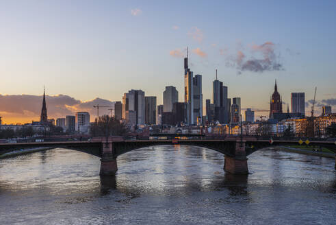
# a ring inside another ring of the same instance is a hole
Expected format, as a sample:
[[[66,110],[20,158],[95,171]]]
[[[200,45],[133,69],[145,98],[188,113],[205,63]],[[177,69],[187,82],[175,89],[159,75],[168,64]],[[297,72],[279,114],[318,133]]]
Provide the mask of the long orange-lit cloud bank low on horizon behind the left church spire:
[[[46,95],[47,114],[49,118],[57,119],[66,115],[75,115],[76,112],[86,111],[93,121],[96,117],[94,105],[112,106],[113,102],[107,99],[96,98],[82,102],[68,95]],[[12,123],[38,121],[42,108],[42,96],[40,95],[0,95],[0,115],[3,121]],[[108,114],[107,108],[99,110],[99,114]]]

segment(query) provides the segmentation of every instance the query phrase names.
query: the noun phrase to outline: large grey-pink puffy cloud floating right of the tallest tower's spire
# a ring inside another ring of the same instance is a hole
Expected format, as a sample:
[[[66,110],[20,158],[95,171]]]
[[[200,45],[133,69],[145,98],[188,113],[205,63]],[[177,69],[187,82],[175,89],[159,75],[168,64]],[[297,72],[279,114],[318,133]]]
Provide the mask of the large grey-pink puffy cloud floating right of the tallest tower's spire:
[[[244,49],[242,44],[239,49]],[[238,73],[242,71],[252,71],[255,73],[262,73],[263,71],[281,71],[283,65],[278,62],[279,56],[275,54],[274,43],[268,41],[262,45],[251,45],[250,56],[246,56],[243,50],[237,51],[235,56],[227,58],[227,66],[236,67]],[[256,58],[257,57],[257,58]]]

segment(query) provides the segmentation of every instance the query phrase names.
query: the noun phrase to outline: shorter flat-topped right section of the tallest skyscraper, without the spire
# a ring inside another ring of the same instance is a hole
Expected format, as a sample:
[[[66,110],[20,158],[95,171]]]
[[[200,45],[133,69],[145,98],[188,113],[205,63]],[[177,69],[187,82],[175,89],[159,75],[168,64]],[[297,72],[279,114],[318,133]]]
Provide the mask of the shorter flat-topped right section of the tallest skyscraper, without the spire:
[[[202,123],[203,118],[203,95],[202,95],[202,75],[195,75],[194,78],[192,78],[193,81],[193,93],[194,93],[194,123]],[[193,123],[193,124],[194,124]]]

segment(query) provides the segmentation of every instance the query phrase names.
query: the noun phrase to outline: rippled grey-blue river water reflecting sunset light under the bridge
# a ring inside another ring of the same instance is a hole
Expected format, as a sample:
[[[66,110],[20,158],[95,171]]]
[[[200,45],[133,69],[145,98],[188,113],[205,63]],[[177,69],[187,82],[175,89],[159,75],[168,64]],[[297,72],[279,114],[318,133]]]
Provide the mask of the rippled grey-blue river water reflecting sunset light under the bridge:
[[[224,156],[155,146],[118,157],[55,149],[0,160],[0,224],[336,224],[333,158],[260,150],[248,176]]]

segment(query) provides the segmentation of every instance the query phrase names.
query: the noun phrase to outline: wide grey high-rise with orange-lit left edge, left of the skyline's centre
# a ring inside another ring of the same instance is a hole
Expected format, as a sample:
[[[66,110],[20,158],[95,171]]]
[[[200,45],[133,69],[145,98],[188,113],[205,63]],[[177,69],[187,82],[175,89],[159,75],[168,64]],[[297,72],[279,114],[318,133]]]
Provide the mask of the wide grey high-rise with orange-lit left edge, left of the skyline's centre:
[[[135,124],[144,124],[144,106],[144,91],[132,89],[129,93],[125,93],[122,97],[122,119],[127,121],[126,112],[135,111]]]

